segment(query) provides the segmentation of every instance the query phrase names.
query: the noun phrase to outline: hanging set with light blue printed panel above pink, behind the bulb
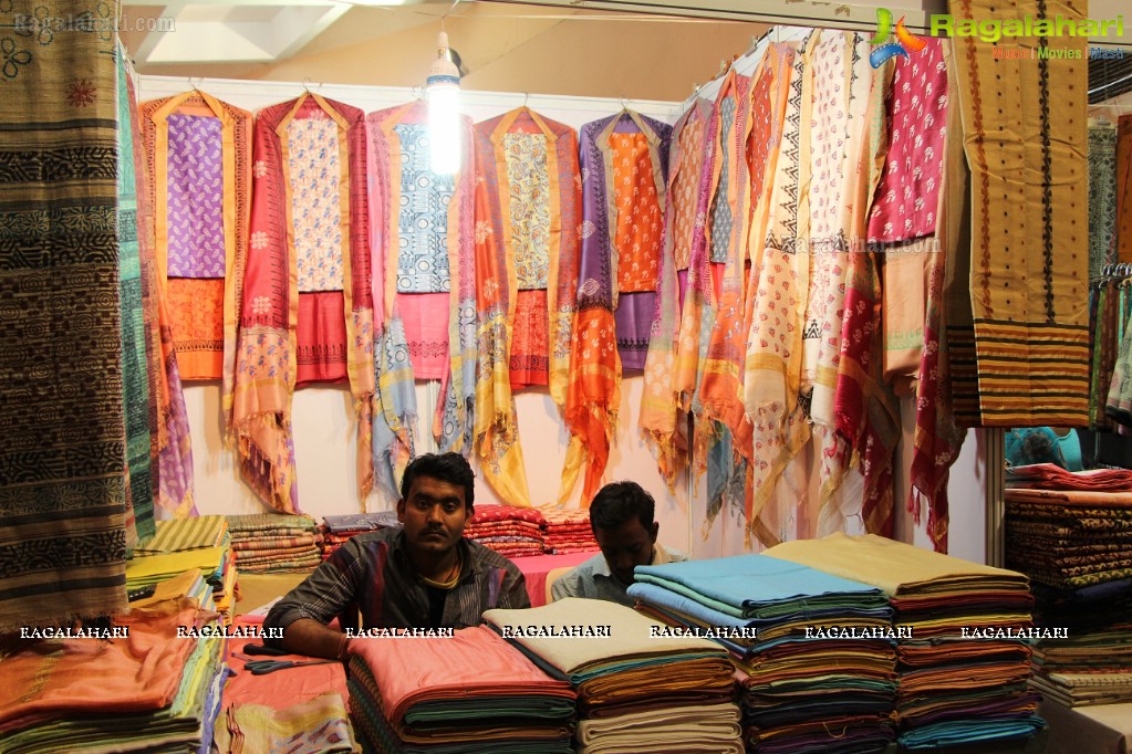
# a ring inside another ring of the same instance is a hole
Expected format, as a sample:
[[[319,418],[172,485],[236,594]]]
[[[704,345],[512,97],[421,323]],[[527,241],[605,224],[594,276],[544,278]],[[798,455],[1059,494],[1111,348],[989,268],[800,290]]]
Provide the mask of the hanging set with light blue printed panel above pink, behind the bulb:
[[[477,378],[474,142],[464,119],[463,168],[429,168],[423,101],[367,116],[374,199],[376,348],[374,465],[394,500],[415,432],[414,379],[439,379],[432,436],[441,452],[472,452]],[[422,323],[443,322],[429,336]],[[431,340],[429,339],[431,338]],[[371,367],[372,369],[372,367]]]

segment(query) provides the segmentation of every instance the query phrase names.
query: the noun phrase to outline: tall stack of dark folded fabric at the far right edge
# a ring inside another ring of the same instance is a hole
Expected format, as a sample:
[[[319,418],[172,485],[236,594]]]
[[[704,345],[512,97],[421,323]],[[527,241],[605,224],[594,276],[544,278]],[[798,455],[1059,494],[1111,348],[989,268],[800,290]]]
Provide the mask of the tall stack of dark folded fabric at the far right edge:
[[[1058,469],[1043,478],[1065,489],[1035,489],[1031,471],[1006,491],[1006,564],[1037,582],[1045,630],[1034,685],[1069,707],[1132,701],[1132,493],[1099,492],[1103,474],[1130,473]]]

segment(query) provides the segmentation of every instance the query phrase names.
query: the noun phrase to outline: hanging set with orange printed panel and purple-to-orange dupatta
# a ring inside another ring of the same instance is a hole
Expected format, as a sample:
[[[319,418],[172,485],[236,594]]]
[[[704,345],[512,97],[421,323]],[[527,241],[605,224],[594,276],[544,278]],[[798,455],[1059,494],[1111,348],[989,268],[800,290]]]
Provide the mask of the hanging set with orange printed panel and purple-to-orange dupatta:
[[[667,182],[667,123],[623,110],[582,127],[582,248],[559,491],[585,467],[582,501],[601,486],[620,408],[623,359],[643,369],[654,309]],[[616,312],[616,315],[615,315]]]

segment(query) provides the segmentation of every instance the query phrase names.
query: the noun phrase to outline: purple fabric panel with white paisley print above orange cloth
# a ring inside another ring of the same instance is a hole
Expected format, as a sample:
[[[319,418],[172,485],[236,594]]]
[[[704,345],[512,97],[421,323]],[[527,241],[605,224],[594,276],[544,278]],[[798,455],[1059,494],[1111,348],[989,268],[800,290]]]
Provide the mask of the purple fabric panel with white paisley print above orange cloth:
[[[224,277],[221,122],[169,116],[169,277]]]

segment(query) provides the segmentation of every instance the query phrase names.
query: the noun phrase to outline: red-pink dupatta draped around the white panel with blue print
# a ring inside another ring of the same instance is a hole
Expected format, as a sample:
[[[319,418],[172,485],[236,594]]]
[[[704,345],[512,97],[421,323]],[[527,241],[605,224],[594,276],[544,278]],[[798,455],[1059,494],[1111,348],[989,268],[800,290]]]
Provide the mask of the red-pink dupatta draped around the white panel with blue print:
[[[240,320],[233,418],[241,470],[259,496],[284,513],[298,512],[291,398],[298,375],[299,270],[291,188],[289,127],[329,119],[336,127],[337,227],[341,251],[345,374],[358,414],[358,486],[372,485],[368,405],[374,393],[369,208],[365,115],[357,107],[305,93],[260,111],[256,119],[251,236]],[[332,127],[335,128],[335,127]],[[327,353],[337,352],[336,344]]]

